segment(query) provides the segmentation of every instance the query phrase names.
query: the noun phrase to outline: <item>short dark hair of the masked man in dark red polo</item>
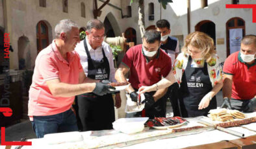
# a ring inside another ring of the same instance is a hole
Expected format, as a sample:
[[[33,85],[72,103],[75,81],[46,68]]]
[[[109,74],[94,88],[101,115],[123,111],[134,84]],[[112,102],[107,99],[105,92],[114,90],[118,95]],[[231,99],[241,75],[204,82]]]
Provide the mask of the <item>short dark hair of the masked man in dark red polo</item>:
[[[157,32],[157,30],[146,30],[143,39],[145,39],[147,43],[155,43],[155,41],[160,42],[161,34],[160,32]]]

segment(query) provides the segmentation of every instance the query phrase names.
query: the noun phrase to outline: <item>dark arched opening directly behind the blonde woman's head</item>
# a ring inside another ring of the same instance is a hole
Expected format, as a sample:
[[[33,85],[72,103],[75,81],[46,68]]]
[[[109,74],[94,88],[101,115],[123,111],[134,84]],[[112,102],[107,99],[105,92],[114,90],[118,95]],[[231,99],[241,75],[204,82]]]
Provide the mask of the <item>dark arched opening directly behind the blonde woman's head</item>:
[[[205,34],[208,34],[214,41],[214,45],[216,45],[215,24],[212,21],[210,21],[210,20],[200,21],[196,25],[195,30],[199,31],[199,32],[204,32]]]

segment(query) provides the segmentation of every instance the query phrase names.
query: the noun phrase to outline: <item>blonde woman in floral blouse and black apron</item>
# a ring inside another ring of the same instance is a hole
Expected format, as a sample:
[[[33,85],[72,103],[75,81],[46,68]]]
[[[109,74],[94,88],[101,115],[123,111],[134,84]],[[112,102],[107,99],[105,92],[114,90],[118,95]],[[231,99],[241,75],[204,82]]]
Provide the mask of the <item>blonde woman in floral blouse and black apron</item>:
[[[203,32],[188,34],[169,75],[153,86],[140,87],[139,91],[162,89],[173,82],[179,84],[183,117],[206,116],[210,109],[217,108],[215,95],[223,86],[222,66],[211,37]]]

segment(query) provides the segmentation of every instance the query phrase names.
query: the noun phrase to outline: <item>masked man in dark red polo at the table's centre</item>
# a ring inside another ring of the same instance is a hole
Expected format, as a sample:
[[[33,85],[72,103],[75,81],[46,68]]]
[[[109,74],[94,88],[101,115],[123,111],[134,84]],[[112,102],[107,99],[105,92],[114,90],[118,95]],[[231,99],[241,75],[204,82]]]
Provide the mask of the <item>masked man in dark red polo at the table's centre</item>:
[[[116,80],[125,82],[125,74],[130,71],[129,82],[131,86],[126,91],[131,99],[136,102],[138,88],[151,86],[166,77],[172,69],[172,61],[168,54],[160,47],[160,33],[156,30],[148,30],[144,33],[142,45],[136,45],[129,49],[123,57],[122,63],[116,71]],[[145,93],[146,117],[166,116],[166,89]]]

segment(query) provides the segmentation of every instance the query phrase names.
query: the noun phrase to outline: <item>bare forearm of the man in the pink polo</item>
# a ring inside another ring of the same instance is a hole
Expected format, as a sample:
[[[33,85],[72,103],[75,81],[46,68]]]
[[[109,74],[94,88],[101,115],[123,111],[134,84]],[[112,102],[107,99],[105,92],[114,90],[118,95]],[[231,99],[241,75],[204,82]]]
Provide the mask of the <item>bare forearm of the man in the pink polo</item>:
[[[76,95],[81,95],[83,93],[90,93],[94,91],[95,87],[95,83],[66,84],[59,82],[55,84],[55,89],[52,94],[55,97],[73,97]]]

